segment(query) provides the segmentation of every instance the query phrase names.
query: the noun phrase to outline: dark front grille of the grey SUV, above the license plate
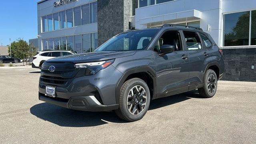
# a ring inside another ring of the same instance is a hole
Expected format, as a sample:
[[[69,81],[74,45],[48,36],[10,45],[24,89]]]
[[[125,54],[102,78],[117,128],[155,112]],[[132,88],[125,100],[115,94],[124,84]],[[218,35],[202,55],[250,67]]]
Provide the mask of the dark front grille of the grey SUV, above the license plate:
[[[48,70],[50,66],[55,67],[54,72]],[[66,87],[76,77],[78,71],[74,67],[74,63],[71,62],[44,62],[41,69],[40,83],[50,86]]]

